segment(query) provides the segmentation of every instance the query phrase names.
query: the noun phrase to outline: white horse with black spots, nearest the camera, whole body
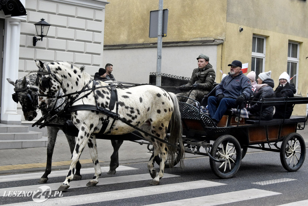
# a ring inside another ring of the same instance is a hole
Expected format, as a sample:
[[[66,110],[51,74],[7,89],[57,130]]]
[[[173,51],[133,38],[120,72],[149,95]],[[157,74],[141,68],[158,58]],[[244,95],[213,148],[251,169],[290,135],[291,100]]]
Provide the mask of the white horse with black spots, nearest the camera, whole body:
[[[173,159],[178,150],[180,162],[183,163],[182,122],[175,94],[153,85],[125,88],[107,85],[103,81],[95,82],[84,72],[84,66],[78,67],[67,62],[45,65],[39,61],[38,67],[39,106],[46,107],[49,98],[61,87],[68,95],[72,121],[79,129],[71,166],[65,181],[58,188],[59,191],[70,187],[69,182],[75,173],[76,162],[86,145],[89,147],[95,168],[95,174],[87,186],[95,186],[98,183],[101,168],[97,164],[95,134],[102,132],[102,127],[106,128],[103,133],[110,135],[138,130],[144,139],[152,143],[153,154],[148,161],[148,169],[153,178],[150,182],[152,185],[159,184],[160,178],[163,177],[167,155]],[[116,91],[116,106],[109,110],[108,105],[113,98],[112,90]],[[169,122],[170,137],[166,142],[164,139]],[[166,143],[170,146],[167,147]],[[156,174],[154,162],[157,157],[160,157],[160,165]]]

